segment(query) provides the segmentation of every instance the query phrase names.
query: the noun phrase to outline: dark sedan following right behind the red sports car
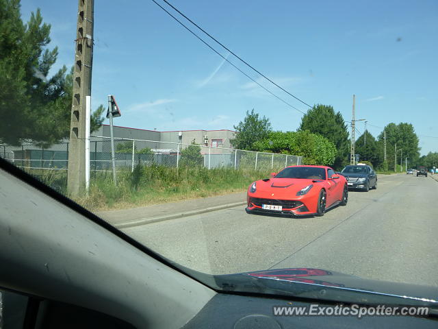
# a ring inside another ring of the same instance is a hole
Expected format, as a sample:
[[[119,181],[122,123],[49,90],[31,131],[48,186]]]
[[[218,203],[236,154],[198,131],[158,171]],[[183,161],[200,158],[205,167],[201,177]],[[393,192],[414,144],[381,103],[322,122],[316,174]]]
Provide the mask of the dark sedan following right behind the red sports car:
[[[347,180],[348,188],[357,188],[368,192],[377,188],[377,175],[368,164],[346,166],[341,171]]]

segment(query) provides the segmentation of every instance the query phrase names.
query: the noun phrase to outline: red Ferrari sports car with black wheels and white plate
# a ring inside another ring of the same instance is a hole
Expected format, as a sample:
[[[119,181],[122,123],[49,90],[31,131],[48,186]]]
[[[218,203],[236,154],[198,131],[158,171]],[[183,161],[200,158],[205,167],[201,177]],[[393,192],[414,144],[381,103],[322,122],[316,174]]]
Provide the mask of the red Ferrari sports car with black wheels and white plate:
[[[292,166],[248,187],[246,212],[323,216],[348,202],[346,178],[330,167]]]

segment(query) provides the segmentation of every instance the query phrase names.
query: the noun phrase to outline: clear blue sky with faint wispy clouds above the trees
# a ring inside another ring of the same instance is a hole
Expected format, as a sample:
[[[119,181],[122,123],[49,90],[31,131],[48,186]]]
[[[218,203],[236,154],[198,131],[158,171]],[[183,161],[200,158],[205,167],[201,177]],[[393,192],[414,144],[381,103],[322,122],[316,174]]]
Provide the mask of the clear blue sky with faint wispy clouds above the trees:
[[[40,8],[52,25],[51,47],[60,49],[55,69],[71,66],[77,1],[21,2],[23,19]],[[437,1],[172,3],[307,103],[330,104],[349,121],[356,94],[357,119],[367,119],[374,136],[382,130],[371,125],[409,122],[420,135],[421,154],[438,151],[438,138],[426,137],[438,136]],[[92,106],[115,95],[122,112],[116,125],[233,129],[252,108],[275,130],[296,130],[300,124],[300,112],[224,63],[152,1],[96,0],[94,15]],[[228,59],[307,110],[233,56]],[[363,123],[357,127],[363,132]]]

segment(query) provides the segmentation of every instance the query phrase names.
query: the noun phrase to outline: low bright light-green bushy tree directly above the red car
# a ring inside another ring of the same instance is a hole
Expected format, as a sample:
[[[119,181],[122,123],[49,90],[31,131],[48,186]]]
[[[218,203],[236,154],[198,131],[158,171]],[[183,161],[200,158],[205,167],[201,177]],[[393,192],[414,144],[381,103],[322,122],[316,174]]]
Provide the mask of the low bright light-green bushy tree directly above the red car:
[[[302,156],[305,164],[331,166],[335,161],[335,145],[327,138],[307,130],[270,132],[268,138],[255,143],[257,151]]]

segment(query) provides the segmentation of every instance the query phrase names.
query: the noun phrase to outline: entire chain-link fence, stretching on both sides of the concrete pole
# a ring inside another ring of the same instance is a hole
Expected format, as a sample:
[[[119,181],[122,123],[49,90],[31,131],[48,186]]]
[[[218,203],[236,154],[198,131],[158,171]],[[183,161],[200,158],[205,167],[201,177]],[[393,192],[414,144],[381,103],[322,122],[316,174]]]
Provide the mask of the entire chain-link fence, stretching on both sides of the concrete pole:
[[[68,142],[58,143],[48,149],[34,144],[18,147],[0,145],[0,156],[23,169],[68,169]],[[166,167],[196,166],[207,169],[233,168],[272,170],[301,164],[300,156],[244,151],[225,147],[189,145],[163,141],[114,138],[114,163],[116,170],[130,169],[136,164]],[[111,171],[111,139],[104,136],[90,138],[90,171]]]

